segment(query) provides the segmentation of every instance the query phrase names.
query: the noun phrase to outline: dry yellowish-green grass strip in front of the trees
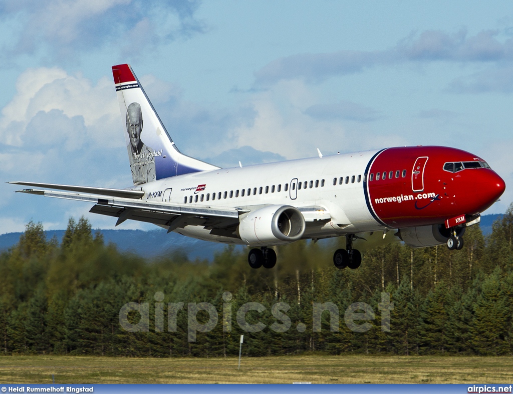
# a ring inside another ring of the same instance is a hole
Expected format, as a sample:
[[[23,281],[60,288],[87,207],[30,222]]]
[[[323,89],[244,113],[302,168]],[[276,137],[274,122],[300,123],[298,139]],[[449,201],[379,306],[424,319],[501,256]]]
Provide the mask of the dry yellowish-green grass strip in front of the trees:
[[[513,357],[2,356],[0,383],[510,383]]]

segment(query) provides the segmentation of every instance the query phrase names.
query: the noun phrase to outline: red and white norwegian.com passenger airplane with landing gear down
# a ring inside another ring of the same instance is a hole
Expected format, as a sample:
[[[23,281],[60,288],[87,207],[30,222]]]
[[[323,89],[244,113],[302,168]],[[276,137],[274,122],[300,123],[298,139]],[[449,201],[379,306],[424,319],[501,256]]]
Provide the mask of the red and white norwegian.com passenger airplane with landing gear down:
[[[467,226],[504,192],[480,157],[441,146],[220,168],[182,154],[130,65],[112,67],[126,127],[133,186],[33,182],[24,193],[93,203],[90,212],[153,223],[186,236],[253,247],[252,268],[272,268],[274,245],[345,236],[337,268],[358,268],[359,249],[401,239],[412,247],[463,247]],[[144,142],[143,142],[144,141]]]

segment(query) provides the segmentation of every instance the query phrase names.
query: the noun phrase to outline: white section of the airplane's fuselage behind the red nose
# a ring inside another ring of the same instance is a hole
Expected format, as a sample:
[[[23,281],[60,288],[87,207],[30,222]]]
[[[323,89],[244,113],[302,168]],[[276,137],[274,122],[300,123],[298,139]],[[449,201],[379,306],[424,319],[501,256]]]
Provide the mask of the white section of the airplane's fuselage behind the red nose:
[[[265,205],[321,207],[329,212],[330,220],[307,220],[303,238],[383,230],[383,225],[369,212],[364,194],[365,169],[376,153],[365,151],[193,172],[142,185],[146,192],[143,199],[249,210]],[[337,180],[335,185],[334,179]],[[141,186],[133,187],[137,188]],[[201,226],[186,226],[175,232],[210,241],[244,244],[237,238],[212,235]]]

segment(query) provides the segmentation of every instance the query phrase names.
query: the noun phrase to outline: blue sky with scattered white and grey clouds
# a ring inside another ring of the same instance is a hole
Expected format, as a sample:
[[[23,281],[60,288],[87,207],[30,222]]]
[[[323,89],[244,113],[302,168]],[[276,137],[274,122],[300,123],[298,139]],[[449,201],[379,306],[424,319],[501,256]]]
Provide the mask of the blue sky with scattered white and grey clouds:
[[[4,181],[129,186],[111,75],[128,62],[186,154],[233,166],[447,145],[505,179],[486,213],[513,201],[511,2],[3,0],[0,47]],[[15,189],[0,188],[0,233],[115,223]]]

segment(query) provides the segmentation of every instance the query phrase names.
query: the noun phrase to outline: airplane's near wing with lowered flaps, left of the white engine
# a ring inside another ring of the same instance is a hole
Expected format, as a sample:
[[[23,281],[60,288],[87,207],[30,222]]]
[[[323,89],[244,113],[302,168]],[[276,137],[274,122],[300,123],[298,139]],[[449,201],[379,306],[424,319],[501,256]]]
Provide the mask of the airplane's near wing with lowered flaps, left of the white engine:
[[[17,190],[17,192],[93,203],[94,206],[89,212],[117,217],[116,226],[131,219],[169,227],[168,232],[187,225],[193,225],[205,226],[215,235],[235,237],[233,231],[239,225],[239,215],[243,212],[248,212],[240,208],[205,207],[194,206],[193,204],[169,204],[159,201],[135,200],[132,196],[126,198],[116,195],[102,196],[73,191],[39,189],[23,189]]]

